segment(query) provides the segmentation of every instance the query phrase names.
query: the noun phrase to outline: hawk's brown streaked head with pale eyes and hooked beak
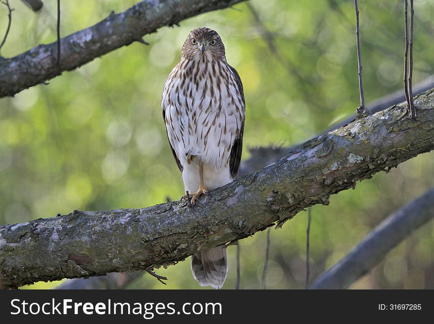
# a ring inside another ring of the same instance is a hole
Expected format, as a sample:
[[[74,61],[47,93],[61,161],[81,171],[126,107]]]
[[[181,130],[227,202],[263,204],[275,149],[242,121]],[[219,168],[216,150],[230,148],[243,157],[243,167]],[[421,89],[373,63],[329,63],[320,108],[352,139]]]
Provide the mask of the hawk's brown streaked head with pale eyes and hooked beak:
[[[206,27],[198,28],[188,34],[182,46],[182,57],[225,59],[224,45],[216,31]]]

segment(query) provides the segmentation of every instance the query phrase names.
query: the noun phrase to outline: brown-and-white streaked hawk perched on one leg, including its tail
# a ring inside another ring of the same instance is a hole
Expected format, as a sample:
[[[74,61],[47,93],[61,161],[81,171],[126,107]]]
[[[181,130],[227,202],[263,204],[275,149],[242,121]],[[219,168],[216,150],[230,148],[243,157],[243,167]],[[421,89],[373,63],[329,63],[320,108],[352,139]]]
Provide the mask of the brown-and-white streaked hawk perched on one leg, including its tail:
[[[240,76],[226,62],[217,32],[190,32],[181,61],[164,85],[161,108],[191,203],[231,182],[240,167],[245,101]],[[226,249],[195,253],[191,271],[199,285],[220,288],[227,275]]]

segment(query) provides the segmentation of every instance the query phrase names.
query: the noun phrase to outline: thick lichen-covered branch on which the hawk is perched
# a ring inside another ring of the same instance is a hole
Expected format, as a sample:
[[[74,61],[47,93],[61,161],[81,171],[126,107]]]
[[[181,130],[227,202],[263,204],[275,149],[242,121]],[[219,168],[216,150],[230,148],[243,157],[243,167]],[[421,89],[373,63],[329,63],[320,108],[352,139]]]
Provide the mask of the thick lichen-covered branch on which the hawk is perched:
[[[80,212],[0,226],[0,285],[168,266],[242,239],[331,194],[434,148],[434,89],[289,151],[276,163],[199,199],[143,209]]]

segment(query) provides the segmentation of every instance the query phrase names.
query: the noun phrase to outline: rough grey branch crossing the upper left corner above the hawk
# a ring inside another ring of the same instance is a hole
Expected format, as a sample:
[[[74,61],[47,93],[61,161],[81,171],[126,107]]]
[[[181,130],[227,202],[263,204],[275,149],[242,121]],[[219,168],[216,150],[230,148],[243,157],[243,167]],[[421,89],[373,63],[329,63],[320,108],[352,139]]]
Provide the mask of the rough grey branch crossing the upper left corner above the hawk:
[[[10,59],[0,58],[0,98],[13,96],[116,48],[140,41],[163,26],[173,26],[183,19],[241,1],[244,0],[145,0],[119,14],[111,13],[98,24],[62,38],[59,65],[56,41]]]

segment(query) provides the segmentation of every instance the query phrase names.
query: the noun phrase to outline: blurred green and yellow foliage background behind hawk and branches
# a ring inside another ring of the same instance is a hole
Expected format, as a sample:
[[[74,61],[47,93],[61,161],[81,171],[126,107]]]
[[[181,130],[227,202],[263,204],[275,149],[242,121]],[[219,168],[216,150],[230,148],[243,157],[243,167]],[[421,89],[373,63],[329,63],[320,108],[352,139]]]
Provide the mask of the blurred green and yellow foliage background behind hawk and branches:
[[[61,35],[120,12],[135,0],[61,1]],[[56,1],[34,13],[10,0],[12,57],[56,39]],[[366,102],[402,88],[402,1],[360,1]],[[415,0],[414,83],[434,72],[434,2]],[[7,10],[0,6],[0,35]],[[179,199],[181,173],[161,118],[164,82],[189,31],[215,29],[244,83],[243,159],[249,147],[303,142],[359,106],[353,1],[252,0],[162,28],[150,43],[122,47],[0,99],[0,224],[78,210],[142,208]],[[420,155],[312,208],[311,280],[337,262],[394,210],[434,185],[433,153]],[[268,288],[304,288],[307,213],[271,231]],[[241,241],[241,288],[261,288],[266,232]],[[228,248],[236,281],[235,247]],[[129,288],[199,288],[189,259],[145,274]],[[37,283],[25,288],[51,288]],[[352,288],[434,288],[434,224],[406,239]]]

